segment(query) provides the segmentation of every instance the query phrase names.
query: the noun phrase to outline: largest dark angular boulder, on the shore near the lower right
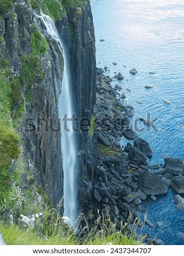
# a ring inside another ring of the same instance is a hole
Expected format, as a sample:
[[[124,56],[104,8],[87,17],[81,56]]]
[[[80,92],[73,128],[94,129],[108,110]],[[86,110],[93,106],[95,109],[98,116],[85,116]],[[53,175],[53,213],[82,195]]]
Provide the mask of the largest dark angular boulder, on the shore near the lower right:
[[[149,195],[162,195],[168,191],[168,185],[155,174],[143,172],[139,176],[138,187],[147,196]]]

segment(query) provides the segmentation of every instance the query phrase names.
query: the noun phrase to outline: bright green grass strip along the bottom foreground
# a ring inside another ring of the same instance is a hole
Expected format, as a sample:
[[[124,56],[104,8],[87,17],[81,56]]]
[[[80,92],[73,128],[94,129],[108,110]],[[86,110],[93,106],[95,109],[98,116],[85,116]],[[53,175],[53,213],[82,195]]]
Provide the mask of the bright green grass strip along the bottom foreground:
[[[118,216],[117,216],[118,217]],[[48,228],[52,233],[43,234],[45,215],[35,217],[34,225],[23,228],[19,225],[7,225],[0,222],[0,232],[8,245],[142,245],[143,238],[136,236],[137,225],[128,230],[127,223],[117,231],[116,220],[112,222],[107,216],[97,217],[93,227],[85,225],[76,235],[75,229],[69,228],[62,218],[50,216]],[[85,234],[85,235],[84,235]]]

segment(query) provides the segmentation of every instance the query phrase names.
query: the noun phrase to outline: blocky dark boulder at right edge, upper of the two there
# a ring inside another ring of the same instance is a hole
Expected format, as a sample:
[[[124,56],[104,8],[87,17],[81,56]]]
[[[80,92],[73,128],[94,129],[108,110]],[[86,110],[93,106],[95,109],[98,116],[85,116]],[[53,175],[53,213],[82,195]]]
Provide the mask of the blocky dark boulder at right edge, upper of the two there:
[[[165,162],[165,173],[171,173],[173,175],[184,174],[182,160],[167,157],[164,159],[164,162]]]

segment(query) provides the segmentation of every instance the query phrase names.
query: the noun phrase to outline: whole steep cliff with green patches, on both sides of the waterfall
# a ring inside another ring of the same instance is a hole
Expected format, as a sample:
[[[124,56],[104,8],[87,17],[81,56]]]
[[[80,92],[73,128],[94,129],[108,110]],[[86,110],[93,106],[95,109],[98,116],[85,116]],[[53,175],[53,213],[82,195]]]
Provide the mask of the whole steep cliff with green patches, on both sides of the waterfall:
[[[90,119],[93,115],[95,37],[89,1],[77,1],[76,6],[72,1],[55,0],[3,0],[0,4],[1,67],[10,75],[3,77],[4,80],[9,81],[12,77],[11,92],[7,96],[11,105],[8,113],[13,120],[14,133],[21,133],[28,169],[32,169],[36,182],[44,188],[57,209],[63,198],[63,169],[61,133],[53,132],[53,129],[60,129],[55,79],[59,76],[62,80],[60,71],[64,59],[56,42],[44,34],[44,25],[36,17],[38,8],[55,19],[69,53],[73,97],[79,119]],[[61,86],[59,90],[62,90]],[[93,181],[93,144],[96,139],[90,138],[89,132],[79,132],[77,141],[78,196],[83,205],[87,205],[92,189],[88,182],[92,184]],[[16,154],[10,159],[16,159]]]

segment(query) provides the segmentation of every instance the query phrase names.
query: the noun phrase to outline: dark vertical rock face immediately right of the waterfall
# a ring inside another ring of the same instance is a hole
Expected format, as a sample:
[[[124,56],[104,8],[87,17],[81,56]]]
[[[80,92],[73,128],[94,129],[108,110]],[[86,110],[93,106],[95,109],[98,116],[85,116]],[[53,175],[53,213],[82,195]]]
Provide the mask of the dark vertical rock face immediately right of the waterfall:
[[[82,13],[70,12],[69,22],[73,27],[70,47],[70,63],[73,74],[73,92],[79,120],[90,120],[96,102],[96,57],[93,16],[90,3],[83,6]],[[86,118],[86,119],[85,119]],[[79,127],[79,205],[87,209],[91,201],[94,181],[96,133],[93,137]]]

